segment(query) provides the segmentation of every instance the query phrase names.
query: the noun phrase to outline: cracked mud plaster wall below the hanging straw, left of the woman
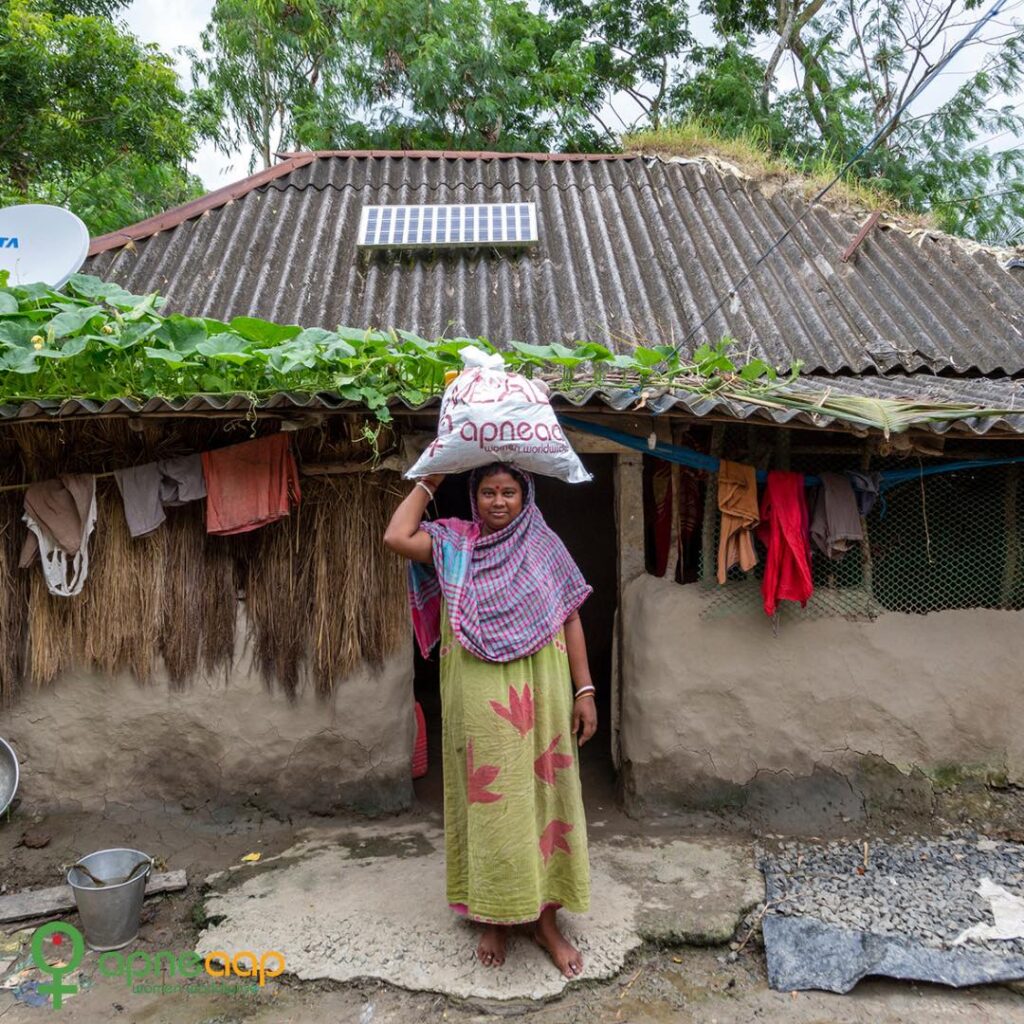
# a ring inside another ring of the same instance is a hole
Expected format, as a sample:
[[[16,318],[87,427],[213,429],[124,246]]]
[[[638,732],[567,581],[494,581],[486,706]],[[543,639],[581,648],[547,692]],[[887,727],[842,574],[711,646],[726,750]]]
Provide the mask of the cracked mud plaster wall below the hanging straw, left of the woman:
[[[243,631],[240,630],[240,633]],[[102,810],[159,802],[368,814],[412,803],[411,642],[318,699],[269,692],[242,648],[230,672],[180,690],[158,677],[69,674],[0,714],[23,806]]]

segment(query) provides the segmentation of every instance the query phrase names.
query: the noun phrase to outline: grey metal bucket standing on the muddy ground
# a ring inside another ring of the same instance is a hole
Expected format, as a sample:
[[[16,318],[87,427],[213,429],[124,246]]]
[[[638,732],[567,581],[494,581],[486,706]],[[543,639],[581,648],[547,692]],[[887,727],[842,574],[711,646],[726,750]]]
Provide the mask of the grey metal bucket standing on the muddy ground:
[[[138,935],[152,871],[153,857],[139,850],[97,850],[71,868],[68,885],[90,949],[121,949]]]

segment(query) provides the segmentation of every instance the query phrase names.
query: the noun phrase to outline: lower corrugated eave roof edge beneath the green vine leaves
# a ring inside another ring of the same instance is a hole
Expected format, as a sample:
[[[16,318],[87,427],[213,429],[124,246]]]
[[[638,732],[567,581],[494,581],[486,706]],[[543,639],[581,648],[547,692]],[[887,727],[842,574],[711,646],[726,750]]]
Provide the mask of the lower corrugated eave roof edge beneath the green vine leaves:
[[[993,433],[1024,433],[1024,381],[1011,379],[978,380],[959,378],[937,378],[926,375],[916,377],[880,378],[880,377],[837,377],[837,378],[802,378],[790,385],[791,388],[803,391],[810,400],[819,399],[823,392],[833,395],[858,395],[869,398],[904,398],[921,402],[955,402],[973,408],[1004,409],[1008,412],[997,417],[967,417],[956,421],[922,423],[935,433],[955,433],[967,435]],[[629,412],[636,409],[637,395],[626,388],[584,387],[569,394],[555,393],[553,402],[556,410],[582,410],[588,407],[590,411]],[[417,410],[431,411],[436,409],[440,399],[432,397]],[[400,399],[392,398],[389,402],[392,409],[410,409]],[[70,419],[81,416],[167,416],[174,414],[236,414],[246,417],[253,409],[263,411],[280,411],[284,417],[294,415],[296,411],[337,412],[354,410],[356,402],[347,401],[337,394],[298,394],[282,392],[264,398],[255,406],[246,395],[194,395],[188,398],[151,398],[146,401],[136,401],[130,398],[112,398],[108,401],[97,401],[75,398],[67,401],[26,401],[20,404],[0,406],[0,419],[19,420],[52,418]],[[1020,409],[1020,413],[1015,410]],[[728,417],[752,422],[774,424],[790,424],[807,427],[843,427],[848,424],[838,420],[828,413],[799,412],[794,410],[765,409],[751,402],[737,401],[716,396],[697,396],[679,392],[654,392],[644,399],[643,411],[648,414],[662,415],[672,410],[685,412],[698,417]]]

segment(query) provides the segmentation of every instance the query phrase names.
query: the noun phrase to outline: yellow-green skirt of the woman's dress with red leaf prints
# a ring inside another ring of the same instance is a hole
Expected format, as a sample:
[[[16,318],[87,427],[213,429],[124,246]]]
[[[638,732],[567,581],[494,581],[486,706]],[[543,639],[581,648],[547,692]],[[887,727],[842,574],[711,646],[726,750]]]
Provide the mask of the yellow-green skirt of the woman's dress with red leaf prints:
[[[447,900],[515,925],[590,906],[587,821],[565,636],[515,662],[483,662],[441,616]]]

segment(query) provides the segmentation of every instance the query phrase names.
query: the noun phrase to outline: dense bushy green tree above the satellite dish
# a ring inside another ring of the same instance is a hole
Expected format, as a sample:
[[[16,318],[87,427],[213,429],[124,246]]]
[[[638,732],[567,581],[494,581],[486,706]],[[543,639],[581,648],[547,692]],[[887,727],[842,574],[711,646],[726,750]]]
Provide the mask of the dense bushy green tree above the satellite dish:
[[[95,233],[200,190],[184,169],[200,123],[169,59],[74,12],[118,6],[0,8],[0,203],[68,204]]]

